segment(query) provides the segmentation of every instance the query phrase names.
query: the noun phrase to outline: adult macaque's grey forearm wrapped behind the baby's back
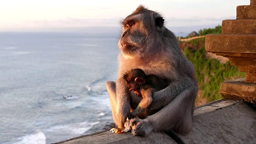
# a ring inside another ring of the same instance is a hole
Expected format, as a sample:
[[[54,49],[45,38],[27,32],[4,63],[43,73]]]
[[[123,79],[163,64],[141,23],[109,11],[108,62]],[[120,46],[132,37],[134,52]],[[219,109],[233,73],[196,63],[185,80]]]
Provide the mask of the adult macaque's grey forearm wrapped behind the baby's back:
[[[156,110],[166,106],[191,85],[195,85],[195,81],[189,76],[173,80],[165,89],[153,93],[153,100],[148,108]]]

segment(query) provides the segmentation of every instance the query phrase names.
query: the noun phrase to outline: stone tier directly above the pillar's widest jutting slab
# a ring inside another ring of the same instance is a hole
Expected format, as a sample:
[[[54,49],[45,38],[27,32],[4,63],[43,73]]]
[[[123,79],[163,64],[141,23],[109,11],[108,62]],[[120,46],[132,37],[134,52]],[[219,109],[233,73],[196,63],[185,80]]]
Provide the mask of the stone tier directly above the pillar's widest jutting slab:
[[[222,34],[256,34],[256,20],[223,20]]]

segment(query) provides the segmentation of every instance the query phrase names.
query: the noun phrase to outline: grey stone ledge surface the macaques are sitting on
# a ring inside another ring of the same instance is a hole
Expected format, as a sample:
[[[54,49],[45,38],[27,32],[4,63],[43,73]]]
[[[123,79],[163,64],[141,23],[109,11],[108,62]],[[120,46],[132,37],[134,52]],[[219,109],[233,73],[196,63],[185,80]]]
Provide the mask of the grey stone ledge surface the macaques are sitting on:
[[[186,144],[253,144],[256,142],[256,109],[240,100],[222,99],[196,108],[193,128],[179,135]],[[168,135],[143,138],[130,133],[102,131],[55,144],[176,144]]]

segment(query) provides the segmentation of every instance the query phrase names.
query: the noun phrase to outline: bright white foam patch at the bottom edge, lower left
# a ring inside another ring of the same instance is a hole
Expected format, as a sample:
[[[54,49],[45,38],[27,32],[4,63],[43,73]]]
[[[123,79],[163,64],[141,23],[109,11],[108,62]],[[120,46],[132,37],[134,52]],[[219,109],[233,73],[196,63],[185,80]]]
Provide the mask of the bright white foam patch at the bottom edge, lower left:
[[[46,136],[40,130],[37,130],[35,134],[29,134],[18,138],[20,142],[14,144],[46,144]]]

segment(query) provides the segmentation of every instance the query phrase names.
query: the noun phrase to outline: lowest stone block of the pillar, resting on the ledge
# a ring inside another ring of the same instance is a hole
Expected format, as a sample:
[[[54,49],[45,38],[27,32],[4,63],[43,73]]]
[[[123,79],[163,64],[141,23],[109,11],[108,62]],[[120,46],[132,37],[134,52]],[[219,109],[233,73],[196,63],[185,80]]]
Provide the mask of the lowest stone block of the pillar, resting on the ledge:
[[[223,98],[244,100],[256,104],[256,84],[244,82],[244,79],[222,82],[220,95]]]

